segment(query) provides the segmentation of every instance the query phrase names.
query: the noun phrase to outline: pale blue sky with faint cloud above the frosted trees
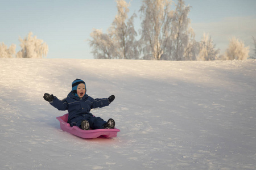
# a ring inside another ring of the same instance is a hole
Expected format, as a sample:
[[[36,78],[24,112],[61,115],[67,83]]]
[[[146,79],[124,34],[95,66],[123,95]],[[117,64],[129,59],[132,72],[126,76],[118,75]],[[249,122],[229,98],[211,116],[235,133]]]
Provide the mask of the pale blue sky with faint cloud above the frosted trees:
[[[130,1],[126,1],[130,2]],[[174,1],[176,2],[176,1]],[[131,1],[129,15],[135,12],[135,29],[139,33],[141,20],[138,12],[142,0]],[[256,37],[255,0],[185,0],[191,5],[188,18],[200,41],[203,33],[209,33],[216,48],[224,53],[232,36],[250,45]],[[174,9],[175,6],[172,6]],[[93,28],[104,33],[117,14],[114,0],[0,0],[0,42],[8,47],[28,32],[44,40],[49,47],[47,58],[93,59],[88,39]]]

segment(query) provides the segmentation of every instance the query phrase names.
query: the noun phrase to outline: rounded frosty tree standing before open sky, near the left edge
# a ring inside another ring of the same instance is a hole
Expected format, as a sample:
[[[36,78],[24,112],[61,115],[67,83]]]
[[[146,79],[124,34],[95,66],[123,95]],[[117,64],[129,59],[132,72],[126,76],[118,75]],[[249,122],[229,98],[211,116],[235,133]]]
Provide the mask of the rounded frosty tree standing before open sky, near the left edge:
[[[16,54],[18,58],[42,58],[47,56],[48,45],[46,42],[32,35],[33,33],[30,32],[23,40],[19,38],[22,50]]]

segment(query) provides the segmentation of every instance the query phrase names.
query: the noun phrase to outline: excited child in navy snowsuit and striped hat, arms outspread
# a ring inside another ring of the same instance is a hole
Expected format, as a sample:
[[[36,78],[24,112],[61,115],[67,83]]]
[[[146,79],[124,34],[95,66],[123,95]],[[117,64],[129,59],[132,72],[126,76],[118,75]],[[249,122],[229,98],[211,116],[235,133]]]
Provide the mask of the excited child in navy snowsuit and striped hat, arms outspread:
[[[90,109],[108,106],[115,99],[109,96],[108,99],[93,99],[86,94],[86,84],[81,79],[72,83],[72,91],[68,96],[59,100],[56,96],[44,94],[44,100],[49,101],[59,111],[68,110],[68,123],[70,126],[79,126],[82,130],[92,129],[114,129],[115,121],[110,118],[108,122],[100,117],[94,117]]]

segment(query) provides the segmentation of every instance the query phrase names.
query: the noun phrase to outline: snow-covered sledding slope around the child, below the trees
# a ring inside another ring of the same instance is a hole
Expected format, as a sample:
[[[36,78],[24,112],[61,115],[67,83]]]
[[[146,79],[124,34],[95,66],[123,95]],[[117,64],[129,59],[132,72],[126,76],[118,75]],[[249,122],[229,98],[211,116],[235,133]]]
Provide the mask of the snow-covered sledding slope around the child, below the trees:
[[[45,92],[115,95],[116,138],[60,129]],[[0,59],[0,169],[256,169],[256,60]]]

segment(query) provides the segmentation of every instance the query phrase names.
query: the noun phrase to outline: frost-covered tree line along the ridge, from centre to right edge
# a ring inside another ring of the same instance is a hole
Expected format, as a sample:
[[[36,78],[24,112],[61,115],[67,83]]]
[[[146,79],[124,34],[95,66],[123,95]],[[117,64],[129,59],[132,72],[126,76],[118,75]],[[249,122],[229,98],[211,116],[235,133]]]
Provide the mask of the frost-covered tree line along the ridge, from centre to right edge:
[[[107,33],[94,29],[89,40],[94,58],[156,59],[156,60],[216,60],[247,59],[249,46],[232,37],[224,55],[216,48],[209,34],[201,41],[195,40],[195,32],[188,18],[191,6],[178,0],[171,10],[169,0],[143,0],[139,10],[141,19],[140,38],[134,29],[134,18],[128,18],[130,3],[117,0],[117,15]],[[254,40],[254,57],[256,42]],[[253,57],[253,58],[254,58]]]

